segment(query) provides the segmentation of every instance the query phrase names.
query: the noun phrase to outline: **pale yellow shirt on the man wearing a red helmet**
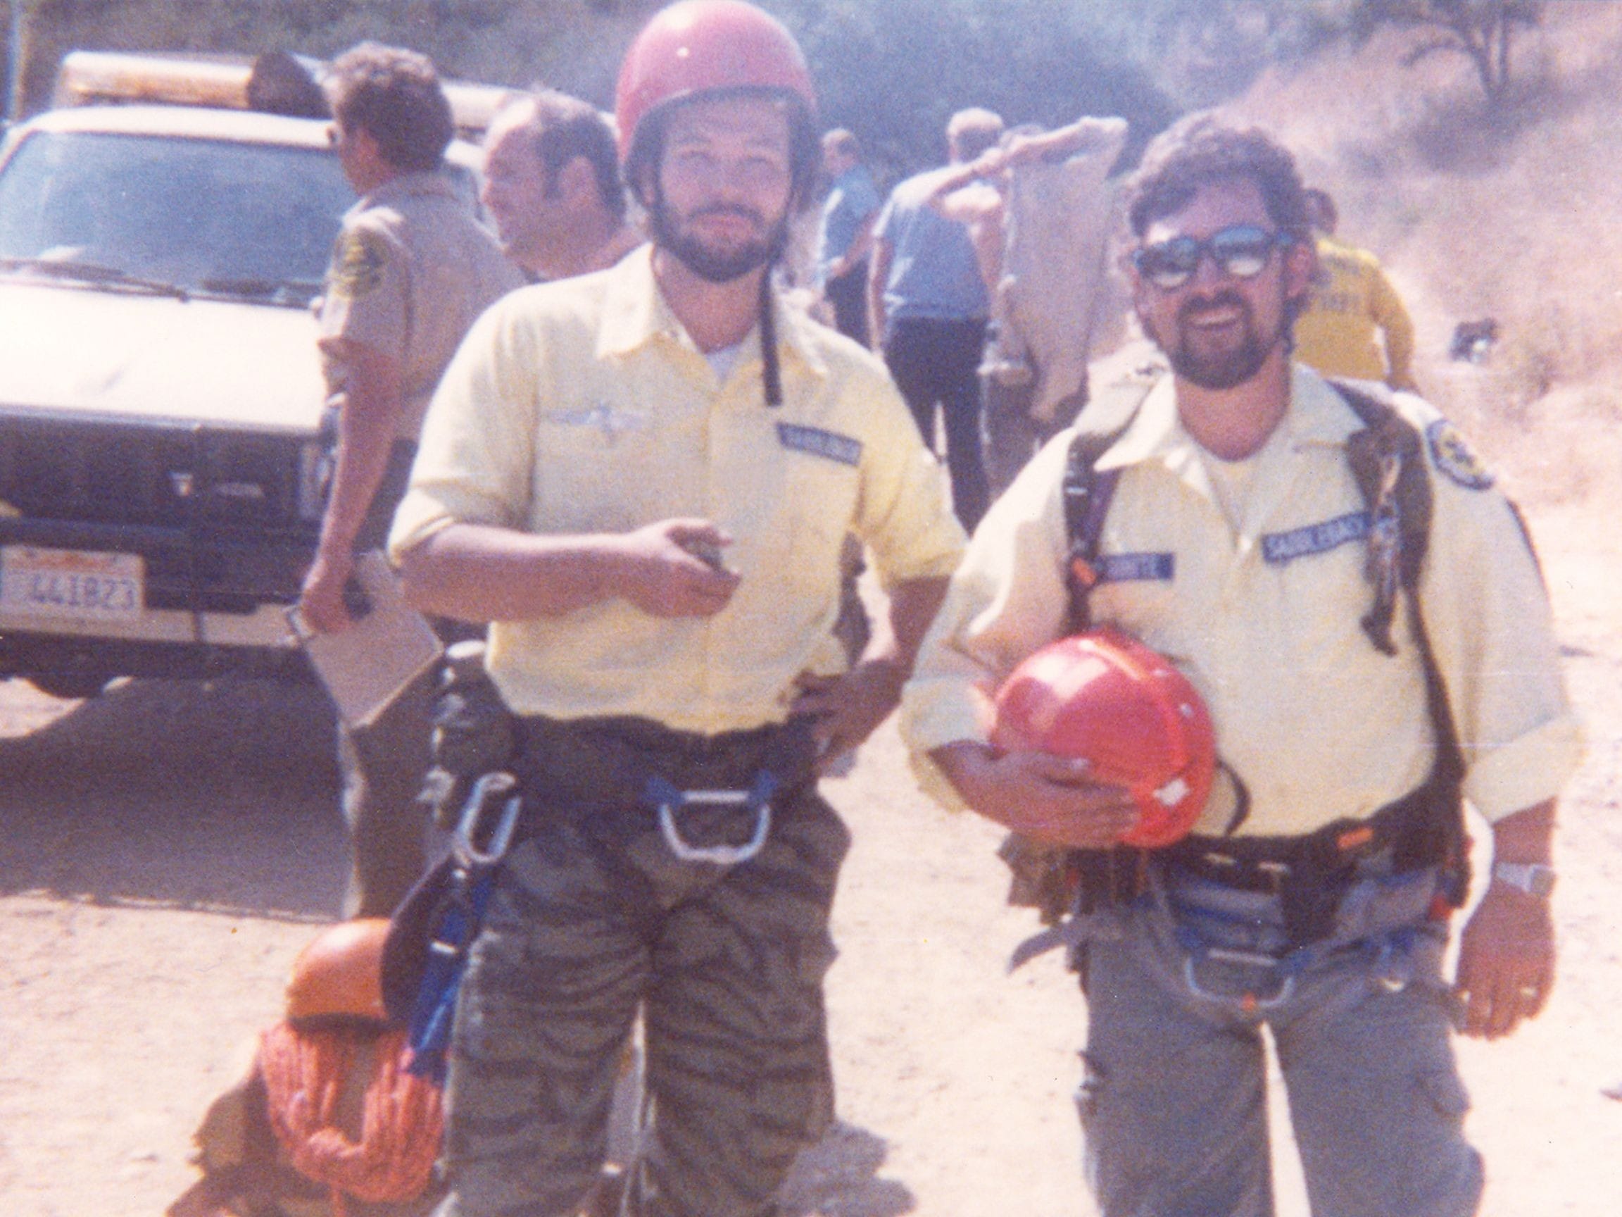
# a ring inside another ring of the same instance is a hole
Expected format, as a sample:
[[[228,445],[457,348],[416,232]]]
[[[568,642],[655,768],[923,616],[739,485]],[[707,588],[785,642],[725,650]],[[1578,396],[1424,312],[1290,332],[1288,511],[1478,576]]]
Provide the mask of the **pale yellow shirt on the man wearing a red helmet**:
[[[650,253],[522,289],[474,326],[423,430],[396,553],[451,522],[624,532],[693,516],[735,537],[715,617],[624,600],[495,621],[490,672],[521,714],[639,716],[715,733],[787,716],[805,670],[843,669],[830,633],[847,532],[886,584],[944,578],[963,534],[882,365],[777,305],[783,404],[757,334],[725,380],[657,290]]]

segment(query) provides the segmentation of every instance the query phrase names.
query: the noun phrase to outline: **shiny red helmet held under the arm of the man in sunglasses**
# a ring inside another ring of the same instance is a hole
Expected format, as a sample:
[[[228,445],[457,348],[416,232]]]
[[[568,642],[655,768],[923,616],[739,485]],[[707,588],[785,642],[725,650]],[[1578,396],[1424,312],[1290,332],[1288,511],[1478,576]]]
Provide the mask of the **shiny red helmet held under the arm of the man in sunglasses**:
[[[1132,792],[1139,821],[1122,844],[1187,836],[1216,774],[1216,738],[1200,695],[1135,638],[1092,630],[1028,656],[998,690],[991,742],[1085,758],[1088,774]]]

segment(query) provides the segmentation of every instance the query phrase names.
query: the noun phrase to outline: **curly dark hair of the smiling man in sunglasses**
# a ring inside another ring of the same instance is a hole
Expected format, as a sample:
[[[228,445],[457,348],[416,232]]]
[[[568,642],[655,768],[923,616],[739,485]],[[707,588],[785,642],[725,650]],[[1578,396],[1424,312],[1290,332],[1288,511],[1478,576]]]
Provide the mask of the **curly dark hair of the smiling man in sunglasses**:
[[[1126,188],[1132,235],[1142,237],[1212,182],[1247,178],[1281,232],[1306,240],[1311,232],[1306,191],[1296,159],[1260,127],[1234,127],[1210,112],[1191,114],[1156,135]]]

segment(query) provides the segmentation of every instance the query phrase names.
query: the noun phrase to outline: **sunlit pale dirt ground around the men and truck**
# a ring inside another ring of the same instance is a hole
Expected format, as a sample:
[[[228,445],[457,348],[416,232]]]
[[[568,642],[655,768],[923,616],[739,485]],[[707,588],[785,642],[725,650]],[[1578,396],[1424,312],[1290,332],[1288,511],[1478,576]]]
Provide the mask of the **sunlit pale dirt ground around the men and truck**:
[[[1562,815],[1562,980],[1465,1043],[1484,1212],[1611,1217],[1622,1194],[1622,545],[1538,513],[1590,759]],[[0,686],[0,1212],[157,1217],[188,1139],[336,915],[342,837],[313,690],[138,682],[92,703]],[[1083,1217],[1071,1092],[1085,1013],[1053,956],[1004,962],[998,832],[915,790],[892,727],[827,784],[856,845],[829,983],[842,1123],[790,1199],[824,1217]],[[1280,1092],[1275,1089],[1275,1097]],[[1277,1108],[1281,1108],[1280,1102]],[[1277,1110],[1281,1118],[1281,1110]],[[1288,1150],[1280,1209],[1306,1212]]]

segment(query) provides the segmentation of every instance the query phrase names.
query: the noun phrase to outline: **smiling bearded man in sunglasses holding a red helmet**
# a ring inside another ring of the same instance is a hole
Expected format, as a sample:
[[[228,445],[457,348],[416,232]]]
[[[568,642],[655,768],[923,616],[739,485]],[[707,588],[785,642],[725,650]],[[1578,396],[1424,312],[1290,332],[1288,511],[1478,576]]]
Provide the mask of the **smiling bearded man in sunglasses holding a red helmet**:
[[[1468,1217],[1450,1034],[1505,1035],[1547,1000],[1554,798],[1581,753],[1536,561],[1427,402],[1291,360],[1314,256],[1289,153],[1194,115],[1148,148],[1127,214],[1169,375],[1101,389],[993,506],[903,732],[944,798],[1075,850],[1051,936],[1088,1003],[1105,1217],[1273,1212],[1264,1024],[1314,1212]],[[1098,781],[1118,766],[988,743],[1007,673],[1087,621],[1210,711],[1218,781],[1181,842],[1118,847],[1139,818]],[[1450,985],[1463,797],[1492,878]]]

